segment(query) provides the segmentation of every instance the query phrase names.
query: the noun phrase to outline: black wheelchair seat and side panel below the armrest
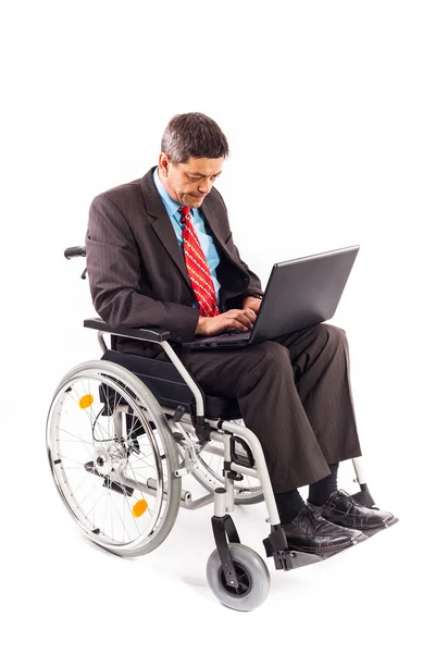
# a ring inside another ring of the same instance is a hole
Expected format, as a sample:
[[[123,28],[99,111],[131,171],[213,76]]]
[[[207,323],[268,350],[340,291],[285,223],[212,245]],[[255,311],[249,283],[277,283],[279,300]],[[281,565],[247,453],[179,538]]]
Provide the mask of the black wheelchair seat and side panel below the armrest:
[[[194,395],[172,362],[123,354],[115,349],[108,349],[101,359],[117,362],[136,374],[163,407],[176,410],[178,406],[183,406],[190,414],[195,414]],[[203,399],[204,412],[209,419],[228,420],[241,417],[236,399],[204,394]]]

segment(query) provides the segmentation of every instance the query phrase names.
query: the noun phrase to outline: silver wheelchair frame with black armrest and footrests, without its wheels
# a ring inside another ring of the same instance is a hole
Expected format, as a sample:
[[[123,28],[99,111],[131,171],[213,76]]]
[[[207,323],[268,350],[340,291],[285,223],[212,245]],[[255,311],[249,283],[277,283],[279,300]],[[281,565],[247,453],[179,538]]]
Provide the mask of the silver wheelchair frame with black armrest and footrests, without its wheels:
[[[183,379],[185,385],[190,391],[195,405],[190,406],[194,408],[191,415],[195,421],[195,433],[201,443],[202,446],[207,446],[208,442],[216,441],[221,442],[224,445],[224,455],[223,455],[223,472],[224,472],[224,488],[215,489],[214,493],[210,493],[204,497],[192,501],[191,494],[189,492],[182,492],[182,507],[187,509],[197,509],[204,505],[208,505],[214,501],[214,517],[212,517],[212,527],[214,539],[216,542],[216,549],[220,554],[220,558],[223,565],[225,578],[228,583],[237,588],[237,577],[234,570],[234,566],[231,559],[228,542],[239,542],[236,527],[231,518],[229,514],[234,512],[234,482],[235,480],[240,480],[240,476],[244,475],[250,476],[259,479],[263,497],[266,506],[268,518],[266,521],[271,525],[271,533],[263,540],[263,545],[265,549],[265,553],[268,557],[273,557],[276,569],[289,570],[293,568],[301,567],[307,564],[311,564],[313,562],[318,562],[321,559],[316,555],[307,554],[298,551],[289,551],[287,549],[287,540],[285,537],[284,529],[281,526],[278,512],[276,508],[276,502],[274,497],[274,493],[272,490],[271,480],[269,477],[268,467],[264,459],[263,449],[261,443],[257,435],[248,429],[247,427],[240,427],[235,424],[234,422],[223,419],[223,418],[208,418],[206,415],[206,398],[196,383],[195,379],[191,377],[190,372],[183,365],[182,360],[176,355],[173,347],[167,342],[170,337],[169,331],[159,328],[152,329],[114,329],[109,326],[103,320],[100,318],[94,318],[85,320],[84,325],[89,329],[98,330],[98,341],[100,347],[103,352],[103,359],[107,357],[108,353],[111,352],[112,356],[109,359],[115,361],[119,358],[120,365],[127,361],[128,359],[133,360],[136,358],[140,358],[144,366],[146,367],[147,361],[148,365],[151,362],[153,367],[157,366],[167,366],[165,361],[156,360],[156,359],[146,359],[144,357],[137,357],[134,355],[123,355],[120,353],[114,353],[113,349],[110,349],[104,341],[104,334],[117,335],[123,337],[130,337],[134,340],[147,341],[152,343],[158,343],[166,356],[172,361],[174,368],[177,370],[179,377]],[[130,368],[127,368],[130,369]],[[135,370],[132,370],[134,373]],[[154,370],[152,370],[154,372]],[[144,377],[142,374],[138,374],[139,378]],[[146,382],[147,379],[142,380]],[[167,384],[166,381],[161,381],[160,392],[162,396],[167,396]],[[174,383],[174,381],[171,381]],[[159,385],[159,384],[158,384]],[[160,403],[160,398],[158,397]],[[171,399],[173,401],[173,399]],[[170,426],[173,431],[173,436],[178,444],[185,446],[185,460],[182,463],[182,466],[175,470],[175,476],[182,477],[186,473],[190,473],[195,464],[196,464],[196,452],[192,443],[188,443],[188,436],[186,439],[186,427],[187,424],[183,423],[183,416],[186,412],[187,406],[186,404],[179,404],[174,409],[173,407],[167,407],[161,405],[162,411],[165,415],[172,415],[169,419]],[[240,416],[239,416],[240,417]],[[183,436],[177,436],[177,431],[182,431]],[[246,442],[249,446],[247,449],[244,446],[244,442]],[[240,457],[236,453],[235,443],[241,445],[245,449],[246,456]],[[221,452],[219,452],[221,453]],[[360,492],[355,493],[352,496],[363,503],[368,507],[374,506],[374,501],[370,494],[364,472],[362,466],[362,459],[353,458],[352,459],[355,471],[356,471],[356,480],[360,485]],[[226,537],[228,542],[226,541]]]

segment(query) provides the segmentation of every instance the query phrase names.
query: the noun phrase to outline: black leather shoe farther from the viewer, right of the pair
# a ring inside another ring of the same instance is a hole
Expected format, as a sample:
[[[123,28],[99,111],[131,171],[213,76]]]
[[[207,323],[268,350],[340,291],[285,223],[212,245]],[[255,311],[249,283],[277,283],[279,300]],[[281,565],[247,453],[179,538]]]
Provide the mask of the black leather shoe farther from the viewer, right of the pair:
[[[309,505],[327,521],[362,532],[386,528],[398,521],[391,513],[368,508],[344,490],[333,492],[323,506]]]

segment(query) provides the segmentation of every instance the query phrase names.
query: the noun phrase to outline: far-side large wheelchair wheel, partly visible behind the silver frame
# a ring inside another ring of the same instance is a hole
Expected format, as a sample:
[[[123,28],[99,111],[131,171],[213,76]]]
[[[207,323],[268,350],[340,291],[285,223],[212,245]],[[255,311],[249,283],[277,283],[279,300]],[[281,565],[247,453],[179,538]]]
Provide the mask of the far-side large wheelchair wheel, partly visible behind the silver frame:
[[[244,424],[243,420],[232,420],[240,426]],[[213,441],[209,446],[213,447],[213,451],[208,451],[208,445],[198,454],[198,463],[196,469],[192,470],[192,476],[206,490],[214,492],[216,488],[224,486],[224,479],[222,476],[223,470],[223,456],[224,445],[221,442]],[[215,449],[220,449],[222,454],[215,453]],[[236,444],[236,451],[238,451],[238,444]],[[243,455],[240,449],[240,455]],[[234,503],[237,505],[252,505],[264,501],[263,491],[260,485],[259,479],[244,476],[243,481],[234,482]]]

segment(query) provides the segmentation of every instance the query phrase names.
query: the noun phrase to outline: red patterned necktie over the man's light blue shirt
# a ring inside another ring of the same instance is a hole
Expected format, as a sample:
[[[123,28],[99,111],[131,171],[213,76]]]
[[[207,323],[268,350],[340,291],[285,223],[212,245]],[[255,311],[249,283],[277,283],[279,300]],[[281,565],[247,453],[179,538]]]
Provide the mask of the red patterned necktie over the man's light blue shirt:
[[[184,259],[190,285],[198,299],[199,315],[207,318],[219,316],[213,280],[199,238],[191,224],[190,209],[189,207],[181,207],[178,212],[182,213]]]

